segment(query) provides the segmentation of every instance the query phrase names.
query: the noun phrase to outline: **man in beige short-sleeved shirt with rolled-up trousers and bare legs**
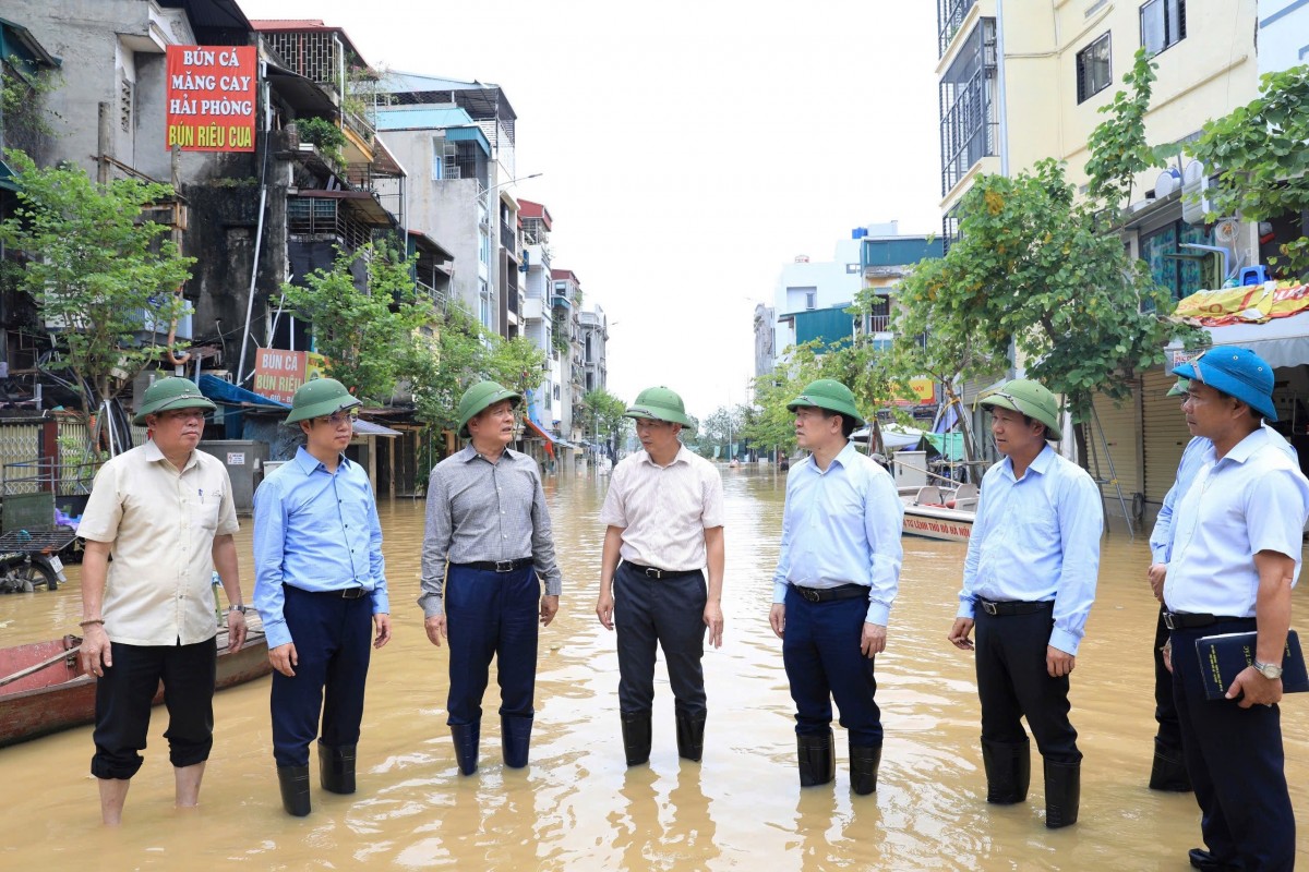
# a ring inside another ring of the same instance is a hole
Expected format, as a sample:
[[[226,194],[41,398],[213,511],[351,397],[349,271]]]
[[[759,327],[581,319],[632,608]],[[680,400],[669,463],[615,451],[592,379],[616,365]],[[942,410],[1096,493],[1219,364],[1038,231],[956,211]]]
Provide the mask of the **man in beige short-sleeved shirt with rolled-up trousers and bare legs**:
[[[86,540],[80,656],[99,679],[90,771],[110,826],[122,821],[130,779],[141,767],[160,681],[177,805],[199,801],[213,745],[215,569],[230,603],[229,648],[245,642],[232,484],[216,458],[195,450],[204,412],[213,408],[187,379],[152,384],[135,418],[151,441],[101,467],[77,528]]]

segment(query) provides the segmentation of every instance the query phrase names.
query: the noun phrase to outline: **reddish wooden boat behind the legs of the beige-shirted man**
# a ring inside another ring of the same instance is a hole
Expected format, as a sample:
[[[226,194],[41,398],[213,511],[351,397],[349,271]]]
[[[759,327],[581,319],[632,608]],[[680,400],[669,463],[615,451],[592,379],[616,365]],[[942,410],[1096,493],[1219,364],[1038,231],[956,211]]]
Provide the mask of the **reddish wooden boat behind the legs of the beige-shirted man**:
[[[96,676],[82,672],[80,646],[81,638],[65,635],[0,648],[0,748],[96,719]],[[220,630],[217,646],[219,690],[272,672],[262,629],[251,628],[237,652],[228,651],[228,631]],[[154,705],[161,702],[162,686],[154,694]]]

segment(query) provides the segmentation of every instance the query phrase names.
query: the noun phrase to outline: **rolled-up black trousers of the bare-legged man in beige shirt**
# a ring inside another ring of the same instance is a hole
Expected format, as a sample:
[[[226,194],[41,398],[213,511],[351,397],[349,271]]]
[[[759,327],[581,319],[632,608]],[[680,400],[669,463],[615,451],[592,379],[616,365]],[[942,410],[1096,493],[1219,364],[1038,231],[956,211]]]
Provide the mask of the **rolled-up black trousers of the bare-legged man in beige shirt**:
[[[114,665],[96,681],[96,778],[131,778],[151,727],[151,703],[164,682],[169,761],[194,766],[213,748],[213,680],[219,650],[213,639],[195,645],[110,643]]]

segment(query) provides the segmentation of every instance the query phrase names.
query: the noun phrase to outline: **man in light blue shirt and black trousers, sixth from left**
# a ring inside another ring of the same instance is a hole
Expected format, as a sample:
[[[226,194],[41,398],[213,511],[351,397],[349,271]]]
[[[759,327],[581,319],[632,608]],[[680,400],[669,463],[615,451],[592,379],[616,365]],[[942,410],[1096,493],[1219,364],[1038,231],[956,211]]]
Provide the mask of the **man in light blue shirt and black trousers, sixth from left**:
[[[1004,460],[982,478],[963,590],[949,641],[973,650],[987,801],[1021,803],[1031,775],[1028,719],[1045,760],[1046,826],[1077,822],[1081,752],[1068,720],[1068,675],[1096,599],[1100,490],[1055,454],[1059,404],[1043,386],[1014,379],[982,399]]]

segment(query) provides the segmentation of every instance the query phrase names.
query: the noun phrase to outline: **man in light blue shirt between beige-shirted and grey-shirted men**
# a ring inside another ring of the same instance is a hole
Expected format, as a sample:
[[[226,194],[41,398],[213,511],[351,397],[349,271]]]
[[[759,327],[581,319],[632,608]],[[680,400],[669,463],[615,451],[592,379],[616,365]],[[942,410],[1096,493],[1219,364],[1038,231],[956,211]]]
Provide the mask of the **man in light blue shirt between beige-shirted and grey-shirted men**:
[[[374,647],[391,638],[377,503],[368,475],[342,454],[359,404],[335,379],[301,386],[287,422],[300,424],[306,442],[254,497],[254,604],[275,671],[272,754],[283,807],[296,817],[310,811],[315,737],[323,790],[355,792],[373,626]]]

